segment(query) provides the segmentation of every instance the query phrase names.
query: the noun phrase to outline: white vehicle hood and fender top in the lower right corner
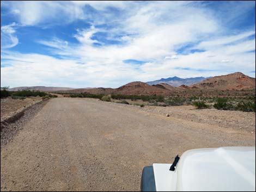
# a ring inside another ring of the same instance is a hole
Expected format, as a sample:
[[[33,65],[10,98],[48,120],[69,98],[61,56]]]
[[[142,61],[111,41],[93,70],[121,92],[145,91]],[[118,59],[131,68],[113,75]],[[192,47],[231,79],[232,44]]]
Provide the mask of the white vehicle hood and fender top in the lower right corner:
[[[169,191],[255,191],[255,147],[186,151],[175,171],[165,170],[168,178],[164,179],[160,178],[160,165],[153,165],[157,191],[160,180],[161,190]],[[167,179],[169,184],[163,185]]]

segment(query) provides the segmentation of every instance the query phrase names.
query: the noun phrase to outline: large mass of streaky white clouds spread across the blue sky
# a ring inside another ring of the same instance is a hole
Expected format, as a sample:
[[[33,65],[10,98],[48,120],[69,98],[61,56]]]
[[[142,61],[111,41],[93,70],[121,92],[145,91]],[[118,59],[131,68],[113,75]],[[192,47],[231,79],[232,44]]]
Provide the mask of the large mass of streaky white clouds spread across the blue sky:
[[[1,51],[1,58],[8,59],[11,64],[1,68],[1,84],[117,87],[133,80],[148,81],[170,76],[209,77],[234,71],[247,74],[253,71],[255,53],[251,51],[255,50],[255,39],[248,40],[248,37],[255,35],[255,31],[223,34],[220,20],[211,10],[198,6],[198,3],[11,3],[10,8],[23,25],[41,26],[45,23],[63,24],[83,20],[89,21],[92,26],[110,23],[113,27],[78,28],[76,34],[71,34],[78,44],[58,38],[39,40],[40,44],[50,47],[51,52],[58,55],[55,58]],[[99,15],[94,17],[86,13],[83,9],[85,4],[99,11]],[[109,6],[120,10],[121,14],[113,14]],[[14,36],[14,26],[10,27],[3,30]],[[100,40],[93,40],[97,32],[104,32],[108,40],[118,40],[121,44],[104,44]],[[187,44],[198,42],[197,46],[186,48],[186,55],[177,51]],[[13,43],[15,45],[17,42]],[[101,43],[102,46],[94,46],[94,43]],[[190,53],[190,49],[205,51]],[[127,59],[147,63],[135,66],[123,62]],[[185,67],[196,70],[179,70]]]

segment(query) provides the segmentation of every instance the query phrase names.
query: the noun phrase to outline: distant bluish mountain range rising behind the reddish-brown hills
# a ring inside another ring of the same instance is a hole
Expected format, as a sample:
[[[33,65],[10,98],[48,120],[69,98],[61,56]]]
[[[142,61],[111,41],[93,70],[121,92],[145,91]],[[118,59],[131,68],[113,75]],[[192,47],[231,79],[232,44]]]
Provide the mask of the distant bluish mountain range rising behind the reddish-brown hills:
[[[199,82],[202,82],[202,80],[205,80],[205,79],[208,79],[208,78],[211,78],[211,77],[193,77],[193,78],[179,78],[179,77],[169,77],[169,78],[162,78],[162,79],[159,79],[159,80],[153,80],[151,82],[146,82],[147,84],[149,85],[156,85],[156,84],[160,84],[160,83],[167,83],[171,86],[175,86],[175,87],[178,87],[180,85],[187,85],[187,86],[190,86],[190,85],[193,85],[193,84],[196,84],[196,83],[199,83]]]

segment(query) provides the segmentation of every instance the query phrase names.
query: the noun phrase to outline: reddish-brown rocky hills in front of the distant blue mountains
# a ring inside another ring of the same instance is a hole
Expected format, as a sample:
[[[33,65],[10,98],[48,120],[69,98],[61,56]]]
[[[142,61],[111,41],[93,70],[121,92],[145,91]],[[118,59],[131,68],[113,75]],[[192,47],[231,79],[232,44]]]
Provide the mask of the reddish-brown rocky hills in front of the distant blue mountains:
[[[170,78],[168,78],[170,79]],[[181,81],[181,78],[174,77],[174,80]],[[87,94],[113,94],[113,95],[170,95],[172,92],[184,92],[187,90],[255,90],[255,78],[244,75],[243,73],[236,72],[223,76],[216,76],[211,78],[188,78],[187,83],[189,86],[181,84],[174,87],[167,83],[159,83],[149,85],[143,82],[131,82],[120,86],[117,89],[112,88],[94,88],[94,89],[74,89],[70,93],[87,92]],[[199,83],[193,83],[194,80],[203,79]],[[173,78],[172,78],[173,80]],[[156,82],[156,81],[155,81]],[[180,83],[179,83],[180,84]],[[176,84],[178,85],[178,84]]]

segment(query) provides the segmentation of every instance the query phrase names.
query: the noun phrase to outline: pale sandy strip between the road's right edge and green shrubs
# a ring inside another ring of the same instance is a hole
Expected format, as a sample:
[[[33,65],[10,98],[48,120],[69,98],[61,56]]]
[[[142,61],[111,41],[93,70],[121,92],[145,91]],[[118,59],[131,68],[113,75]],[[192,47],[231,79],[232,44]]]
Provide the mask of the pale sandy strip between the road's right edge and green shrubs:
[[[217,109],[196,109],[193,106],[153,107],[141,108],[144,112],[166,115],[174,119],[187,122],[203,123],[205,126],[213,125],[220,128],[241,129],[255,132],[255,113]]]

